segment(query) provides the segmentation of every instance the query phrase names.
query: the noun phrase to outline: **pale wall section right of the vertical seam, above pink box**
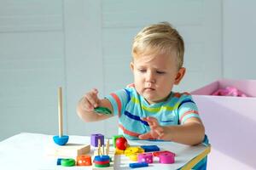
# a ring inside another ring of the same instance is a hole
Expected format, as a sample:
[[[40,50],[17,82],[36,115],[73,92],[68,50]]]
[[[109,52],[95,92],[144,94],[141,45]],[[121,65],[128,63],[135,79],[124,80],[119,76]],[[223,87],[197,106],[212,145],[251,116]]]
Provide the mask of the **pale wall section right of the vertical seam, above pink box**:
[[[256,79],[256,1],[224,0],[224,77]]]

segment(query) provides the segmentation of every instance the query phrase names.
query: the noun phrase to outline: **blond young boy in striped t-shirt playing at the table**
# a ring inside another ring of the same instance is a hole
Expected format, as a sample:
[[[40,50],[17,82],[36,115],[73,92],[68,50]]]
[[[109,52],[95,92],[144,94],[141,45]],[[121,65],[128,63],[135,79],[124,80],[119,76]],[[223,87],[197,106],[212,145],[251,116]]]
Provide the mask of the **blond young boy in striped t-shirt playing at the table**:
[[[96,89],[79,101],[84,122],[119,116],[119,133],[128,139],[163,139],[199,144],[205,129],[195,102],[188,93],[172,92],[185,74],[183,38],[169,23],[145,27],[132,44],[131,71],[134,83],[99,99]],[[98,106],[112,115],[97,114]]]

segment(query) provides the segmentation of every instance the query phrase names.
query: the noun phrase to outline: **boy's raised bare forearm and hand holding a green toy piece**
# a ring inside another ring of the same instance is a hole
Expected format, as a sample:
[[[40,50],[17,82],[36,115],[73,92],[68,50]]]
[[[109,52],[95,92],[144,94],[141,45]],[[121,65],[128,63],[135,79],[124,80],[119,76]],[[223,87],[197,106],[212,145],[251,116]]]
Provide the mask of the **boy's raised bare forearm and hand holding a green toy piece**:
[[[82,99],[80,99],[79,104],[77,105],[77,113],[84,122],[101,121],[113,116],[113,107],[109,100],[98,99],[97,93],[96,89],[92,89],[89,93],[85,94]],[[99,106],[108,108],[112,114],[104,115],[96,113],[94,109]]]

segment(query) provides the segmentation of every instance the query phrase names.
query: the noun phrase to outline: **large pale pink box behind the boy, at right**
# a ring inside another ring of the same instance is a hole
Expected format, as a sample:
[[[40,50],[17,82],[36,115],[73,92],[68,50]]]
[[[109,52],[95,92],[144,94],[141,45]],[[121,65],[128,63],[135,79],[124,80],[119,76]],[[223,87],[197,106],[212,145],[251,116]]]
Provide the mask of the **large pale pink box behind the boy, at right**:
[[[250,97],[211,95],[218,88],[228,86]],[[225,167],[218,163],[217,158],[221,155],[256,169],[256,80],[218,80],[191,94],[206,127],[212,150],[218,150],[208,156],[209,164],[215,166],[212,169]],[[221,155],[218,156],[218,153]],[[236,166],[230,169],[236,169]]]

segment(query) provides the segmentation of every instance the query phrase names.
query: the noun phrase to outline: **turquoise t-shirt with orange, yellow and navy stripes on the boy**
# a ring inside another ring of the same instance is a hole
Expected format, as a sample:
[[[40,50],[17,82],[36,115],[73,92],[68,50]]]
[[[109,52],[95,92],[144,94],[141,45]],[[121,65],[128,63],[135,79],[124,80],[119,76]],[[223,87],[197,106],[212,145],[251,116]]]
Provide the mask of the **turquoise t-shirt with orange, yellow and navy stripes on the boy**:
[[[171,93],[166,101],[151,104],[137,94],[134,86],[121,89],[106,97],[113,106],[113,115],[119,116],[119,133],[127,139],[138,139],[150,127],[143,117],[155,117],[160,126],[183,124],[189,117],[199,117],[198,109],[188,93]]]

